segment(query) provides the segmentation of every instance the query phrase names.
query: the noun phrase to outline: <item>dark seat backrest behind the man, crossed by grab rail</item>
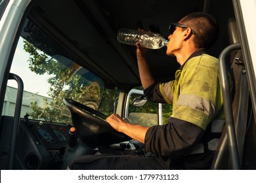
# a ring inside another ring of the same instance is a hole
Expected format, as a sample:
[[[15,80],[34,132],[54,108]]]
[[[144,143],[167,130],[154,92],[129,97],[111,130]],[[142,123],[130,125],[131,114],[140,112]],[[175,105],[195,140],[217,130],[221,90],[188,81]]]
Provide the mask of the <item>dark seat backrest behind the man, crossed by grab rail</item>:
[[[230,44],[234,44],[239,41],[236,22],[234,19],[230,19],[228,22],[228,33],[230,35]],[[233,80],[232,112],[236,141],[238,145],[238,155],[240,163],[242,163],[249,102],[249,88],[247,76],[245,75],[246,71],[242,51],[237,50],[236,52],[232,52],[232,54],[230,54],[230,62],[226,65]],[[226,128],[224,128],[223,134],[221,135],[211,169],[230,169]]]

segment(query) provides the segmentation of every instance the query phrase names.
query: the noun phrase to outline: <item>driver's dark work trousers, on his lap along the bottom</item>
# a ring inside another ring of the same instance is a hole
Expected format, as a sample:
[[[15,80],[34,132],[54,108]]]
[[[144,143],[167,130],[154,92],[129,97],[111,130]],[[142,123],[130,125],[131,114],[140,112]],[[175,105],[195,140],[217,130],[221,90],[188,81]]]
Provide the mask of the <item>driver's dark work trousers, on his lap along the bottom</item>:
[[[69,169],[74,170],[184,170],[211,168],[214,152],[192,154],[179,159],[161,159],[157,156],[139,156],[136,154],[98,154],[86,155],[75,159]]]

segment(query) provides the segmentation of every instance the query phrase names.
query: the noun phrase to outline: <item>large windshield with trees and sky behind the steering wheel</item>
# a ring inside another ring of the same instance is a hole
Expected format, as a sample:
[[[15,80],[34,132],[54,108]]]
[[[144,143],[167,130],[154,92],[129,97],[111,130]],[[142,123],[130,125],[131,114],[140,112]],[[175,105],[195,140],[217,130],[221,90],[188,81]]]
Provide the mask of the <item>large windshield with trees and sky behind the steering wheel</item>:
[[[71,123],[63,99],[69,98],[105,115],[114,112],[118,90],[108,90],[104,81],[84,67],[60,44],[27,20],[18,42],[11,73],[24,82],[21,117]],[[3,115],[14,115],[16,83],[9,81]]]

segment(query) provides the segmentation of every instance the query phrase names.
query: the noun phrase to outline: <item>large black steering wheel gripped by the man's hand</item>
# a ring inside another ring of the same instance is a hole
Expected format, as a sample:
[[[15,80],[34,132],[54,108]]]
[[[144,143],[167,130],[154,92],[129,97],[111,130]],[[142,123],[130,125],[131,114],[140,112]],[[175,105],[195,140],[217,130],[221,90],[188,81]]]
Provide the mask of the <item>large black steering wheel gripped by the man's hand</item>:
[[[95,148],[131,139],[105,122],[108,116],[101,112],[72,99],[63,99],[63,102],[71,112],[72,123],[77,129],[77,137],[84,144]]]

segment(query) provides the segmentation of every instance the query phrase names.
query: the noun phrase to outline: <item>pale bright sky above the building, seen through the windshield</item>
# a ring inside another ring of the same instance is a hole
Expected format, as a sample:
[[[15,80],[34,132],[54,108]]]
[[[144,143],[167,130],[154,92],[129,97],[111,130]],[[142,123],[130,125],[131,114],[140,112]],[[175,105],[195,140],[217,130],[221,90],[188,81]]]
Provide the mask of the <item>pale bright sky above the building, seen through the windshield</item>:
[[[18,41],[18,46],[14,54],[14,59],[12,62],[11,73],[14,73],[24,82],[24,90],[26,92],[37,93],[48,97],[47,92],[49,90],[49,83],[47,82],[48,75],[36,75],[28,68],[28,58],[29,54],[23,49],[23,39],[20,38]],[[17,83],[14,80],[9,80],[8,86],[17,88]]]

